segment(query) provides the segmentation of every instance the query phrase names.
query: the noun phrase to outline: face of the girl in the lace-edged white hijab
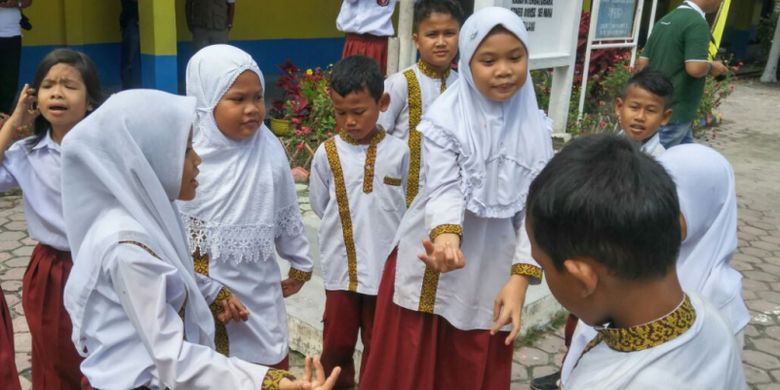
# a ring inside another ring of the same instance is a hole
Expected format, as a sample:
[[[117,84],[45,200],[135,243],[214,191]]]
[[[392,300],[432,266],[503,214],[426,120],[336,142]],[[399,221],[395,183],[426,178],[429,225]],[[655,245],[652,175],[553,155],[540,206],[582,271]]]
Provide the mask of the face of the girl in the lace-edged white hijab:
[[[265,119],[265,101],[260,77],[246,70],[222,95],[214,108],[217,127],[225,137],[243,141],[257,133]]]

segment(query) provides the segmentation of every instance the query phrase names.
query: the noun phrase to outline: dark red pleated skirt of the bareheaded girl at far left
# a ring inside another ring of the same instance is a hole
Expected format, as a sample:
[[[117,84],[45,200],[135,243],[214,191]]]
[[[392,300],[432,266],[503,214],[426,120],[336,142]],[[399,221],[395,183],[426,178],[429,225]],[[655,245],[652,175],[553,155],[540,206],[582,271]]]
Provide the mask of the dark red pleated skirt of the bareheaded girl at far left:
[[[32,338],[33,390],[82,388],[82,358],[71,341],[70,317],[62,302],[72,266],[70,252],[38,244],[24,273],[22,306]]]

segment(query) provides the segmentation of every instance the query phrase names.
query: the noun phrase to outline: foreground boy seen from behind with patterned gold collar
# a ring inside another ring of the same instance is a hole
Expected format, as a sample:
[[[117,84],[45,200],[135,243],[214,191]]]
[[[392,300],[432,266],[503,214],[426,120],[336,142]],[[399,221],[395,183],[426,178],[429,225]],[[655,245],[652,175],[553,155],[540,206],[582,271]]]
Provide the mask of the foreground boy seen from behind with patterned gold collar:
[[[598,332],[567,357],[564,389],[746,388],[729,327],[680,286],[680,207],[652,157],[622,137],[577,139],[531,184],[526,209],[550,290]]]

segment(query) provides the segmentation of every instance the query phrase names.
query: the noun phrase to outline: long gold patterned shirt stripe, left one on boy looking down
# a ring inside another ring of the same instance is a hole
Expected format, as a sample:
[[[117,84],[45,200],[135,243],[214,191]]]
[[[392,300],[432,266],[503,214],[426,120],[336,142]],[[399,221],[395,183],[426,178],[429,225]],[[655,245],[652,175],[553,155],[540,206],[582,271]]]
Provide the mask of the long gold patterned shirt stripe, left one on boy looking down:
[[[325,142],[325,153],[328,156],[328,165],[330,165],[330,171],[333,173],[333,183],[336,186],[336,204],[339,206],[341,230],[344,234],[344,248],[347,251],[349,291],[354,292],[357,291],[357,254],[355,253],[355,239],[352,234],[352,217],[349,213],[347,187],[344,184],[344,171],[341,169],[335,137]]]

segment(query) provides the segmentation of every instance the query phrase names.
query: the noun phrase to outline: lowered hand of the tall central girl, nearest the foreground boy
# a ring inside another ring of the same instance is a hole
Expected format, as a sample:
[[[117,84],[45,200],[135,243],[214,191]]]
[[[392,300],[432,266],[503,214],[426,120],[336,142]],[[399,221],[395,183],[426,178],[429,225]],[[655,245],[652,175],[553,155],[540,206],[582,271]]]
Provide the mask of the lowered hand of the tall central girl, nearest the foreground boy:
[[[490,329],[490,334],[495,335],[504,325],[512,322],[512,330],[504,340],[506,345],[510,345],[520,331],[520,317],[523,314],[525,292],[528,290],[529,283],[526,276],[512,275],[496,296],[496,302],[493,306],[495,324]]]

